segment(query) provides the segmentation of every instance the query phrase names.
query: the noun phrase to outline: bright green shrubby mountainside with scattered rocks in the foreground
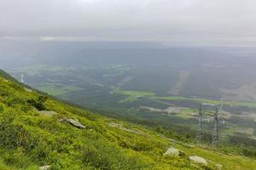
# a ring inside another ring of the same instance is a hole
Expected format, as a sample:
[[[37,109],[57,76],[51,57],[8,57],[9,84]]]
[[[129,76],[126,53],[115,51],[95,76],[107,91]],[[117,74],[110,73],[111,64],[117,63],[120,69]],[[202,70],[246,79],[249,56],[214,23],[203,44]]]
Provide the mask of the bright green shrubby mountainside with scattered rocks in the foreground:
[[[145,127],[38,94],[4,71],[0,141],[1,170],[256,169],[253,159],[173,142]],[[163,156],[171,146],[184,155]],[[189,156],[204,157],[207,165],[189,161]]]

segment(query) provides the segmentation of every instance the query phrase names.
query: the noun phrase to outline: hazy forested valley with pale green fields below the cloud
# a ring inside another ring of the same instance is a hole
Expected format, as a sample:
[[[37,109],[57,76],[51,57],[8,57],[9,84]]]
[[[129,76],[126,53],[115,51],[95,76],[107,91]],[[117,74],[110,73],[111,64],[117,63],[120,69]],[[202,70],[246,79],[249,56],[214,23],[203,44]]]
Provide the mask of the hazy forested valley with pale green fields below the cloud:
[[[2,66],[46,94],[137,122],[172,128],[187,127],[189,122],[194,132],[200,103],[220,105],[223,99],[220,137],[245,133],[256,139],[253,48],[174,48],[161,42],[7,42],[5,46],[15,54],[2,54]]]

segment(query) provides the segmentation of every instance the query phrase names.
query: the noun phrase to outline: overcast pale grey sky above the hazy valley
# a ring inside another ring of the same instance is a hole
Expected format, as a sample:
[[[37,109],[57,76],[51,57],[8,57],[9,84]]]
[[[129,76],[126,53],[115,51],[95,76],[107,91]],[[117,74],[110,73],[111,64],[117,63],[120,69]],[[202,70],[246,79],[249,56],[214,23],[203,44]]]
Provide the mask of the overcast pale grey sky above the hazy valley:
[[[255,0],[0,0],[0,37],[256,45]]]

